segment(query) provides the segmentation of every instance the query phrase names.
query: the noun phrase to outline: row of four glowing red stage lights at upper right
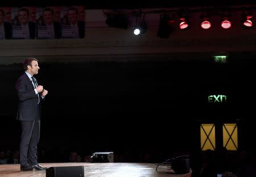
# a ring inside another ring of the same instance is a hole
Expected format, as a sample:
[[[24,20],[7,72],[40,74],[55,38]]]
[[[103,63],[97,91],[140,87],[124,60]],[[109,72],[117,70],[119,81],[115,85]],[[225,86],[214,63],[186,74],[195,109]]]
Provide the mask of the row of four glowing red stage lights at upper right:
[[[246,16],[246,20],[243,22],[243,26],[253,27],[253,22],[251,21],[251,18],[253,18],[253,16]],[[203,20],[203,22],[201,23],[201,28],[203,28],[203,29],[209,29],[211,26],[212,26],[212,24],[209,22],[209,20],[207,18],[205,18]],[[189,24],[187,23],[185,18],[180,19],[179,27],[180,27],[180,29],[186,29],[189,27]],[[221,22],[221,27],[224,29],[228,29],[231,27],[231,22],[228,19],[224,19]]]

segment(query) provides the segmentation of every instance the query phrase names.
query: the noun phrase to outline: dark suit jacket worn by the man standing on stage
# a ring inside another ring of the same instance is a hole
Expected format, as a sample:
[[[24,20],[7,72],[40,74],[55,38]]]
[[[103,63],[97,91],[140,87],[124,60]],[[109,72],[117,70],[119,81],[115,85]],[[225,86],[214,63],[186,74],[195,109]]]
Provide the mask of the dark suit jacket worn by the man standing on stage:
[[[38,95],[35,94],[34,86],[26,73],[18,78],[15,89],[18,92],[19,98],[18,113],[16,119],[23,121],[40,119],[42,95],[39,93],[40,103],[38,105]]]

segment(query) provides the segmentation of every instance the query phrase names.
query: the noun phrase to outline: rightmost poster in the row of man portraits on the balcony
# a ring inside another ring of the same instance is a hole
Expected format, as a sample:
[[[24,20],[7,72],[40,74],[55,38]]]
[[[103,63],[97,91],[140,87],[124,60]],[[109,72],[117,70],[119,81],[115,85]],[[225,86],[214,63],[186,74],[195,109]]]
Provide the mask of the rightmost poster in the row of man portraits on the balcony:
[[[61,10],[61,37],[84,38],[84,6],[63,7]]]

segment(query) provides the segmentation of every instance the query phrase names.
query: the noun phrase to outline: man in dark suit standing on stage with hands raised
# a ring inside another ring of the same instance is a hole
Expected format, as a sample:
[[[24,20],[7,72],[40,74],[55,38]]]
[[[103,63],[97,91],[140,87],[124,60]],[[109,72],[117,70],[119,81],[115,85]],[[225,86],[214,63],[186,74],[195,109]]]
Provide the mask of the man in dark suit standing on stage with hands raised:
[[[48,91],[38,85],[33,75],[38,74],[38,60],[27,58],[23,62],[25,73],[16,81],[19,104],[17,119],[22,126],[20,140],[20,170],[46,170],[36,156],[40,136],[41,103]]]

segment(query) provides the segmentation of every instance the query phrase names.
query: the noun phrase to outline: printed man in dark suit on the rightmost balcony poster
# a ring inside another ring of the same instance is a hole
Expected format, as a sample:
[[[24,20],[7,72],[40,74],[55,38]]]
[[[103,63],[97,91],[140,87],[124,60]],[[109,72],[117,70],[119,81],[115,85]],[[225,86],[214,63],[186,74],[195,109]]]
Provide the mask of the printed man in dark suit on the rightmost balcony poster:
[[[68,9],[68,21],[75,33],[75,37],[83,38],[85,33],[85,22],[78,19],[79,11],[75,7],[70,7]]]

